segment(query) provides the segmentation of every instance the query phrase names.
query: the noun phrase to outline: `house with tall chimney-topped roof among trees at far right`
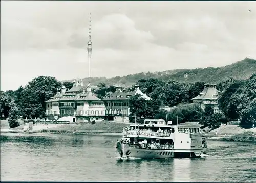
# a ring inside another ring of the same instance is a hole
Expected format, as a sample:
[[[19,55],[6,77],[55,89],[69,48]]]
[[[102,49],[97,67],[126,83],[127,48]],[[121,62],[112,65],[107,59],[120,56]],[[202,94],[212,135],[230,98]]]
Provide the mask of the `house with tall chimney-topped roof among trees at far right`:
[[[209,105],[214,109],[214,112],[218,112],[218,90],[216,84],[204,84],[204,89],[201,93],[193,98],[194,103],[199,103],[201,108],[204,110],[205,106]]]

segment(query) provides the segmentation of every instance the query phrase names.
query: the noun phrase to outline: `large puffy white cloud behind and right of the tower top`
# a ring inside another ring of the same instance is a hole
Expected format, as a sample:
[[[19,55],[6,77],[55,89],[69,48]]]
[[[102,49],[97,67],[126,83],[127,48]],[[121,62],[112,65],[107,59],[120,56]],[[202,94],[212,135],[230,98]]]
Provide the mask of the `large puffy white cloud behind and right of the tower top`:
[[[69,45],[77,48],[86,48],[88,28],[78,30],[69,38]],[[92,42],[96,48],[112,48],[134,50],[145,43],[151,42],[154,37],[150,31],[138,30],[135,23],[123,14],[110,14],[92,25]]]

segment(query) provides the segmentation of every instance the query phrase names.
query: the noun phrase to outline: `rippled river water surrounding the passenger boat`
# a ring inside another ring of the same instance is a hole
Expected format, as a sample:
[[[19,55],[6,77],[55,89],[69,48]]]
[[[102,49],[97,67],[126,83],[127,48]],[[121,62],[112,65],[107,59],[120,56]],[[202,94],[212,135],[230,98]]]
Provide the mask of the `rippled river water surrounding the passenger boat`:
[[[256,143],[207,141],[196,159],[118,160],[118,138],[1,134],[1,181],[256,182]]]

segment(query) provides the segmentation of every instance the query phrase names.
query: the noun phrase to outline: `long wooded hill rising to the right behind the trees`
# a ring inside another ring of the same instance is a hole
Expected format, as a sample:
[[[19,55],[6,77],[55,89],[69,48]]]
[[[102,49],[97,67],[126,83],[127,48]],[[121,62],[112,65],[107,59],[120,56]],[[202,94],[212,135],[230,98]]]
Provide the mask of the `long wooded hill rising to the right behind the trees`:
[[[233,79],[248,79],[249,76],[256,73],[256,60],[245,58],[231,65],[224,67],[207,67],[196,69],[176,69],[166,70],[162,72],[141,72],[137,74],[129,74],[126,76],[117,76],[112,78],[106,77],[94,77],[84,78],[83,82],[90,82],[91,85],[98,85],[99,83],[105,83],[107,86],[120,84],[121,86],[130,87],[134,85],[140,79],[148,79],[150,77],[161,79],[163,81],[175,80],[178,82],[207,82],[207,83],[219,83],[225,79],[232,77]],[[184,75],[188,74],[185,78]],[[73,79],[74,80],[74,79]],[[66,80],[66,81],[73,81]]]

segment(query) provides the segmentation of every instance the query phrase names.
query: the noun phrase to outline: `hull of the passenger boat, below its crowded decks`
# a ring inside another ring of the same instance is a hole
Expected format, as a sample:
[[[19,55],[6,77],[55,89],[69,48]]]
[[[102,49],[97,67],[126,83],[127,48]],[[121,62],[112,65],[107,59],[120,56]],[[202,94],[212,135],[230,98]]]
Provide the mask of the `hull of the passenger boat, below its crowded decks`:
[[[133,157],[142,159],[156,158],[197,158],[205,153],[205,149],[145,149],[129,144],[117,144],[117,151],[121,157]]]

